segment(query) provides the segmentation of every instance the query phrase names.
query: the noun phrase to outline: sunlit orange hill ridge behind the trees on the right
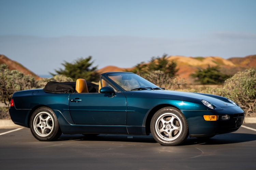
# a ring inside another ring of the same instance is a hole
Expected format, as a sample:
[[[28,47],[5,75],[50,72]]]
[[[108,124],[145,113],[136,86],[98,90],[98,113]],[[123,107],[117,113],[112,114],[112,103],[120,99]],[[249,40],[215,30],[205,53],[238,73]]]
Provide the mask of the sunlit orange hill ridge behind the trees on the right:
[[[175,61],[179,71],[177,74],[181,78],[185,78],[188,83],[194,82],[194,79],[190,77],[191,73],[194,73],[198,68],[206,68],[209,66],[220,66],[221,71],[226,74],[234,74],[238,71],[245,70],[247,68],[256,68],[256,55],[249,55],[246,57],[232,57],[224,59],[221,57],[186,57],[186,56],[169,56],[169,61]],[[134,65],[137,63],[134,63]],[[145,63],[147,64],[147,63]],[[116,66],[106,66],[98,70],[98,72],[110,72],[110,71],[124,71],[132,68],[119,68]]]

